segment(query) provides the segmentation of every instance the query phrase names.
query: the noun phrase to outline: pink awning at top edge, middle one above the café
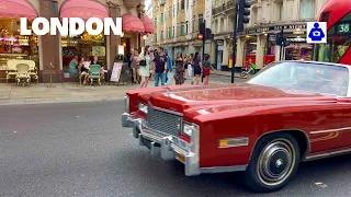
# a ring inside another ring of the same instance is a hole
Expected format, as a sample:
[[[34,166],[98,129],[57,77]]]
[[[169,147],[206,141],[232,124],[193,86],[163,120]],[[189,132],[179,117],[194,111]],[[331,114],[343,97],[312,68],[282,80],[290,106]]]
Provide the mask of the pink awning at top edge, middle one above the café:
[[[59,13],[60,18],[80,18],[84,21],[90,18],[99,18],[104,20],[109,18],[107,10],[100,3],[91,0],[68,0],[66,1]]]

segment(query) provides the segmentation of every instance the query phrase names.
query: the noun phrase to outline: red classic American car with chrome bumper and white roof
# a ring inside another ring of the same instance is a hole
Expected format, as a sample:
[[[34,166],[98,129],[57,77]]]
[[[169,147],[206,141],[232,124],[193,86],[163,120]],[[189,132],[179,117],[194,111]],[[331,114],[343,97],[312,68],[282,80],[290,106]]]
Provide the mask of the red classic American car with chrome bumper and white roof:
[[[245,83],[132,90],[123,127],[186,176],[244,171],[283,188],[303,161],[351,151],[350,66],[278,61]]]

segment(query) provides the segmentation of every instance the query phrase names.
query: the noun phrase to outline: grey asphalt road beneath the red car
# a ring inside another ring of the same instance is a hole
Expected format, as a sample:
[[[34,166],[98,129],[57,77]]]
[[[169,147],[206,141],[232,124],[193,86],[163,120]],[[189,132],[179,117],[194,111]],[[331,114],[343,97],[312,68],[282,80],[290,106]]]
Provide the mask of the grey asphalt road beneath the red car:
[[[122,101],[0,106],[0,196],[351,196],[350,155],[304,163],[271,194],[247,190],[241,173],[186,177],[138,146],[122,111]]]

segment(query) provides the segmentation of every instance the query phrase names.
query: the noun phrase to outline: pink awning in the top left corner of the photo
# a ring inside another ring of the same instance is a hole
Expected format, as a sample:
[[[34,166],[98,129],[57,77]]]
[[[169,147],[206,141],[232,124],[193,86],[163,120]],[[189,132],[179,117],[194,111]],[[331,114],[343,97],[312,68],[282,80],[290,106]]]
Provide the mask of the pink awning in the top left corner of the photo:
[[[35,10],[25,0],[0,0],[0,18],[37,18]]]

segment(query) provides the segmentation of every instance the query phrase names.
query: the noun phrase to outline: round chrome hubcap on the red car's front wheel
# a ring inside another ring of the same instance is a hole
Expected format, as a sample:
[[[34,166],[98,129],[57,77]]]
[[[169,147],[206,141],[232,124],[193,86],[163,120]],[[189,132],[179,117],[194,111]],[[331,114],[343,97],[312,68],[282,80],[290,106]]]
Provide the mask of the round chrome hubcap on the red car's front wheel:
[[[285,139],[278,139],[262,150],[257,165],[260,181],[270,186],[283,183],[295,164],[294,146]]]

